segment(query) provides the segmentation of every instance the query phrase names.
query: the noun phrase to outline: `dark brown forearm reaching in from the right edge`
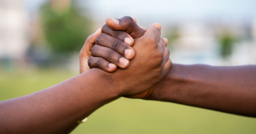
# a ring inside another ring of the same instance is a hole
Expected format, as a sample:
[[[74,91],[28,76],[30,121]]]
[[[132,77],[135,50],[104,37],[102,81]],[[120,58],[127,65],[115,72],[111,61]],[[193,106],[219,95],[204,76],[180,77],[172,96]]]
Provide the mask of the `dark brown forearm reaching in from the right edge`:
[[[149,99],[256,117],[256,66],[173,64]]]

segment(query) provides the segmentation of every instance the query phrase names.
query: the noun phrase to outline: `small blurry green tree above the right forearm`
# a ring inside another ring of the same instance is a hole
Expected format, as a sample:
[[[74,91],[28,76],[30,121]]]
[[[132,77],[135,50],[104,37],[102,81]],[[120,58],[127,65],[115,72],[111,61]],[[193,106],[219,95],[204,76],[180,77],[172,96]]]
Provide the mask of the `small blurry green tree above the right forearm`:
[[[236,41],[237,39],[229,32],[223,32],[223,34],[219,36],[221,57],[227,58],[232,54],[232,50]]]

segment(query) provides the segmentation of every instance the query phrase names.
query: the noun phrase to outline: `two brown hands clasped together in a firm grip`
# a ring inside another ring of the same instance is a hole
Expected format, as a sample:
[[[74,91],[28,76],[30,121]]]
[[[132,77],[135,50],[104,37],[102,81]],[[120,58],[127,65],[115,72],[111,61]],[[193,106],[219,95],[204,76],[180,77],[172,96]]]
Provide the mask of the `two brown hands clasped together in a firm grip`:
[[[153,24],[145,31],[129,16],[108,18],[86,39],[79,54],[80,72],[102,69],[106,71],[102,76],[118,87],[120,96],[146,98],[172,67],[167,39],[160,37],[160,30],[159,24]]]

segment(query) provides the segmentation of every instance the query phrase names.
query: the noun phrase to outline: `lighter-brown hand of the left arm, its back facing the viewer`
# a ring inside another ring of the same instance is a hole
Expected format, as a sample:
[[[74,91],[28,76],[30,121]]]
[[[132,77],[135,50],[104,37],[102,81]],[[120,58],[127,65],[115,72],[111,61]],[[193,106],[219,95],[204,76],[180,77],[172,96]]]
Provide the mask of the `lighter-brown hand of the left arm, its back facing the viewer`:
[[[122,83],[113,85],[124,89],[121,91],[122,95],[143,93],[158,82],[171,68],[170,53],[160,35],[161,32],[158,28],[149,27],[142,37],[134,39],[133,49],[136,56],[130,61],[129,68],[117,69],[114,73],[108,73],[107,79],[111,83]],[[97,40],[99,43],[103,43],[106,38],[99,36]],[[113,48],[111,45],[110,43],[110,48]],[[102,53],[108,53],[108,51],[102,50]]]

